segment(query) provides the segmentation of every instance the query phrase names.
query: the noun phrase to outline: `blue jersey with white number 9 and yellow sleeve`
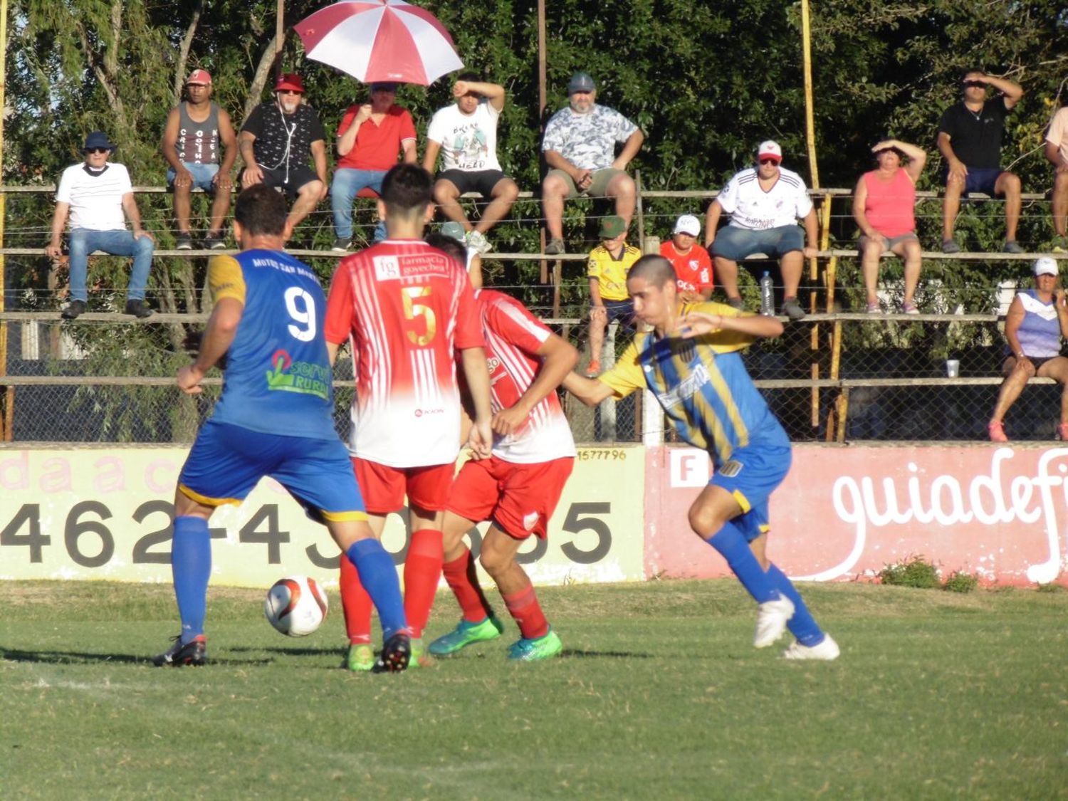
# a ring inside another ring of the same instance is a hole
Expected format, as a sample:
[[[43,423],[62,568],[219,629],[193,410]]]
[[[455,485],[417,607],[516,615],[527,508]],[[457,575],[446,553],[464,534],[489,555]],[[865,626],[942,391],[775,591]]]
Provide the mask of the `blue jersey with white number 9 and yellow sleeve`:
[[[211,419],[265,434],[337,439],[333,372],[323,336],[326,297],[288,253],[247,250],[208,264],[215,302],[245,304]]]

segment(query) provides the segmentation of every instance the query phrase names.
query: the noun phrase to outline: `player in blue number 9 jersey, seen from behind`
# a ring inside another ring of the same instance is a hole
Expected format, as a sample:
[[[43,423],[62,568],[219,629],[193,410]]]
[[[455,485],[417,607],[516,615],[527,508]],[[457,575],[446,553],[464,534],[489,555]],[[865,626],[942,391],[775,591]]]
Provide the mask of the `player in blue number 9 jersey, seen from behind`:
[[[171,568],[182,633],[153,662],[205,662],[208,518],[224,503],[240,503],[269,475],[326,524],[356,565],[382,625],[376,670],[403,671],[411,645],[396,569],[367,524],[333,427],[326,296],[312,269],[282,250],[285,219],[281,194],[264,186],[246,189],[234,210],[241,251],[208,263],[215,308],[197,360],[178,371],[177,383],[183,392],[200,393],[201,379],[223,356],[225,380],[178,476]]]

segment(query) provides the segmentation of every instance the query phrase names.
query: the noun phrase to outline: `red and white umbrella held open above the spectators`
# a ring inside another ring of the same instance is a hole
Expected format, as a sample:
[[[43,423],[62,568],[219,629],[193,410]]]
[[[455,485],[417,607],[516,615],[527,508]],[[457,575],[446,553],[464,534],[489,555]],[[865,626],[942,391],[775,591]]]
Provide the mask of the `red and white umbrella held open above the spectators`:
[[[364,83],[425,87],[464,66],[438,18],[404,0],[342,0],[305,17],[294,30],[308,58]]]

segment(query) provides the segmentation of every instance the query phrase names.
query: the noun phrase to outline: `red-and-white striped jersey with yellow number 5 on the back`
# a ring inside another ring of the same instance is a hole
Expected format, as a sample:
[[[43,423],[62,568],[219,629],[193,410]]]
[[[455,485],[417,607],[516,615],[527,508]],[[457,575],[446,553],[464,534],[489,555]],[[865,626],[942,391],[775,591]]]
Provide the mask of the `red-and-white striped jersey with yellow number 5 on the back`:
[[[417,239],[345,257],[330,285],[326,337],[352,344],[354,456],[397,468],[456,459],[456,350],[485,344],[461,265]]]

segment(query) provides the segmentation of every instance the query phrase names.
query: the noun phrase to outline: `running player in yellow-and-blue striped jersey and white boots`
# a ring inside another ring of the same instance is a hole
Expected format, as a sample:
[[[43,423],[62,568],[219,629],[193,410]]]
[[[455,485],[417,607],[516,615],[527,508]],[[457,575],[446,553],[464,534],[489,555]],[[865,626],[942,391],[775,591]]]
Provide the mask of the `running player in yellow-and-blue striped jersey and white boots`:
[[[648,389],[679,436],[708,452],[714,471],[690,506],[690,527],[719,551],[759,604],[753,645],[797,638],[787,659],[835,659],[837,643],[810,614],[790,580],[767,557],[768,499],[790,468],[790,442],[753,384],[739,350],[778,336],[783,324],[721,303],[681,303],[675,271],[642,256],[627,277],[638,334],[596,379],[571,373],[563,386],[587,406]]]

